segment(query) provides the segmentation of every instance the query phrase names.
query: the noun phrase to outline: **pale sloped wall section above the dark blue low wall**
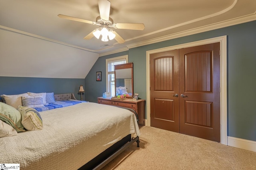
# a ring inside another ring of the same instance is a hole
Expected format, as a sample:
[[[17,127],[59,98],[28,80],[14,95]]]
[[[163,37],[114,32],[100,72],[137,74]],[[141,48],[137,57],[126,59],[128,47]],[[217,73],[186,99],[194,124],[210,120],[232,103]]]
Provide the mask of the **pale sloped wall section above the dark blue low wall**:
[[[85,78],[98,54],[0,29],[0,76]]]

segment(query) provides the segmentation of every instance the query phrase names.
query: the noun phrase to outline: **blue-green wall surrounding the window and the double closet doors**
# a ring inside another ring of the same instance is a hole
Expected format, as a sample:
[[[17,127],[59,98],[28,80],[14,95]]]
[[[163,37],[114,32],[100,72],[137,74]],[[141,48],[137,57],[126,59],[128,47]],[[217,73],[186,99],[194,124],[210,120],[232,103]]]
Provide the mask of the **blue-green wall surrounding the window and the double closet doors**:
[[[213,37],[228,37],[228,136],[256,141],[256,21],[145,45],[99,57],[85,78],[86,100],[97,102],[106,91],[106,59],[128,54],[134,65],[134,92],[146,99],[146,51]],[[96,82],[102,71],[102,82]]]

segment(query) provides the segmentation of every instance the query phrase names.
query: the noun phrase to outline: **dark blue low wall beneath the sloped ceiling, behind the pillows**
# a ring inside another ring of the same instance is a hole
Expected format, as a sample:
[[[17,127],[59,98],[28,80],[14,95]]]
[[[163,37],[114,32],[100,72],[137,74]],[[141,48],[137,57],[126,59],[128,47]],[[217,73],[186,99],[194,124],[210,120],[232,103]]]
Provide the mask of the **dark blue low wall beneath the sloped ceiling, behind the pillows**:
[[[31,77],[4,77],[0,76],[0,94],[22,94],[26,92],[54,92],[54,94],[78,94],[79,86],[84,86],[83,78],[31,78]]]

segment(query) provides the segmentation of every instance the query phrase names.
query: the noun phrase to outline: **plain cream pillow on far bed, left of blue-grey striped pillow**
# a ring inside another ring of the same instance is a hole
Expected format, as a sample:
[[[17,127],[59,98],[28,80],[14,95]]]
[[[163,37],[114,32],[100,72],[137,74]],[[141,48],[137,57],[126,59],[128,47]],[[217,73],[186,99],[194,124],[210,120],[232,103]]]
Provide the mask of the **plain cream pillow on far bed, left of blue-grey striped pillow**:
[[[18,106],[22,106],[22,99],[21,96],[28,96],[27,93],[23,93],[23,94],[16,94],[16,95],[1,95],[1,98],[4,98],[4,101],[6,104],[14,107],[14,108],[18,108]]]

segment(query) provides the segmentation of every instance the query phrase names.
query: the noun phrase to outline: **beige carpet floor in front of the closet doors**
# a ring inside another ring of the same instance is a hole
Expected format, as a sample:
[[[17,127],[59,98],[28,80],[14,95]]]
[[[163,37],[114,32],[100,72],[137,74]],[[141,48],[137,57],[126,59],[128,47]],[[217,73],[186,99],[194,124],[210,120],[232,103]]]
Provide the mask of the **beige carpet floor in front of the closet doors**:
[[[256,152],[154,127],[102,170],[256,170]]]

